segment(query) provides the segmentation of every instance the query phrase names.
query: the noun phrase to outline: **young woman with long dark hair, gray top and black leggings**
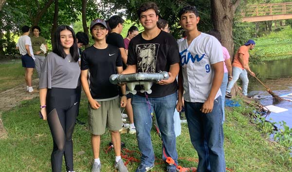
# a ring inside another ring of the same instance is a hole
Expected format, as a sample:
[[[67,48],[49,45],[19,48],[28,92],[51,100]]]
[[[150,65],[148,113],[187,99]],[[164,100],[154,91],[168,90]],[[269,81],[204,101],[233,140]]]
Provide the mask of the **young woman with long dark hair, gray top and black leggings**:
[[[53,137],[52,172],[61,172],[65,156],[66,172],[73,172],[72,134],[77,115],[76,87],[79,82],[78,47],[73,29],[59,26],[53,52],[44,60],[39,78],[40,112]]]

